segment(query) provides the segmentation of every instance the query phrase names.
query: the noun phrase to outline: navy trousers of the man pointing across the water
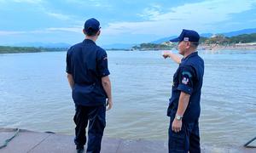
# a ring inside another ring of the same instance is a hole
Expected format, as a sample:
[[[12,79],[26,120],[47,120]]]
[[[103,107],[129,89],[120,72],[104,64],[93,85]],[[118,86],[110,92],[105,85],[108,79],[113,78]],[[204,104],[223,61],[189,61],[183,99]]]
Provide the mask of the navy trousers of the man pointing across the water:
[[[182,130],[178,133],[172,131],[172,122],[175,118],[170,117],[169,126],[169,153],[200,153],[200,135],[198,121],[183,122]]]

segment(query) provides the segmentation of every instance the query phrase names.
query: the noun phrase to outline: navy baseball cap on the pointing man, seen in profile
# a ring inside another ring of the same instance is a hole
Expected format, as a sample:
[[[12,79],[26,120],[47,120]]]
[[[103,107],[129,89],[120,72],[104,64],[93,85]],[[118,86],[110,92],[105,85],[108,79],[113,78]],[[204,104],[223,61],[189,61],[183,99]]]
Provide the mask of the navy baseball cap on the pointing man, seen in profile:
[[[196,31],[183,29],[179,37],[171,39],[170,42],[199,42],[200,36]]]

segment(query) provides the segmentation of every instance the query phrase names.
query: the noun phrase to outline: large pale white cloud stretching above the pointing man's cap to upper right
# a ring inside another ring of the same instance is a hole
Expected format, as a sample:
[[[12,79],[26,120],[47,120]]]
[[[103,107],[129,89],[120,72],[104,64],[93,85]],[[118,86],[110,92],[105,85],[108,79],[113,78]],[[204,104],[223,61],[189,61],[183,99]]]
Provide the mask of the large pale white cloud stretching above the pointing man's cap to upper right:
[[[186,3],[176,8],[170,8],[166,13],[160,13],[159,7],[145,8],[143,14],[138,14],[147,21],[109,23],[103,31],[108,35],[119,34],[157,34],[166,36],[177,34],[181,29],[209,31],[219,28],[220,22],[230,20],[232,14],[239,14],[253,8],[255,1],[212,0],[201,3]],[[230,6],[231,5],[231,6]],[[230,6],[230,7],[229,7]]]

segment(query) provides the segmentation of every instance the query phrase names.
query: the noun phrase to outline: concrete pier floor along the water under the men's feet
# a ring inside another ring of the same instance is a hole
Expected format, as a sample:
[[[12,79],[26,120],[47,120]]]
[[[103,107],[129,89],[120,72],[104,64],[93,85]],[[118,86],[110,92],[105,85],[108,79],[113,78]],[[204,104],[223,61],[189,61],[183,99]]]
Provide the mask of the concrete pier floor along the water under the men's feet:
[[[0,146],[15,134],[13,128],[0,128]],[[167,142],[145,139],[110,139],[103,137],[102,153],[167,153]],[[0,153],[75,153],[73,136],[58,133],[20,132]],[[255,153],[256,148],[201,146],[203,153]]]

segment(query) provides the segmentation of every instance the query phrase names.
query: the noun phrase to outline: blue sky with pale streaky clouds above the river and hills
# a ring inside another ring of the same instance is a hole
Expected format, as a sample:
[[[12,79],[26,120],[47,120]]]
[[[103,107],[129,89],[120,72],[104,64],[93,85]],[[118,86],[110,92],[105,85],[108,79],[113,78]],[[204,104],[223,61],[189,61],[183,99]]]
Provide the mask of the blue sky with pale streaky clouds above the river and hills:
[[[0,0],[0,45],[81,42],[91,17],[101,22],[99,44],[151,42],[183,28],[256,28],[256,0]]]

